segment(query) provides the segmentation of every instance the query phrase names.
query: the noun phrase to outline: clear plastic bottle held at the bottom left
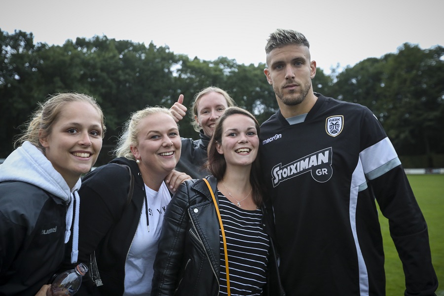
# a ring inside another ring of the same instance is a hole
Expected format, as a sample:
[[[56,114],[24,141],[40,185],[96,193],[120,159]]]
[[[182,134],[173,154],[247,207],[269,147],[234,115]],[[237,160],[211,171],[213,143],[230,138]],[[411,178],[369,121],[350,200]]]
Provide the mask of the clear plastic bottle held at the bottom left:
[[[74,269],[67,270],[58,275],[46,292],[46,296],[72,296],[80,288],[82,276],[88,271],[88,267],[80,263]]]

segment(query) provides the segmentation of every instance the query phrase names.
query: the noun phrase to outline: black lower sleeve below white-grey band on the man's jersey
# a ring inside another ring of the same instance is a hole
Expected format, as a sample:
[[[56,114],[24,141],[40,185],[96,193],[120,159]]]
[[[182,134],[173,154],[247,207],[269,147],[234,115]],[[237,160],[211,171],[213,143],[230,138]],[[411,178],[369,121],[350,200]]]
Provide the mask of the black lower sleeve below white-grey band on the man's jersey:
[[[432,265],[427,223],[400,165],[372,180],[390,235],[403,263],[405,296],[433,296],[438,279]],[[378,198],[379,197],[379,198]]]

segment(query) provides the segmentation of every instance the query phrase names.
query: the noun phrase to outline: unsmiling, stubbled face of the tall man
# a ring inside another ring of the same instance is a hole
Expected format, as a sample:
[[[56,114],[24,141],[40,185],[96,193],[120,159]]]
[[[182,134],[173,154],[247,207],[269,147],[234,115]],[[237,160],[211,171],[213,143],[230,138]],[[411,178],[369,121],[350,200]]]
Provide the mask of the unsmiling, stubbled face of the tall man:
[[[313,93],[311,80],[316,74],[316,62],[310,61],[310,51],[303,45],[290,44],[267,54],[267,81],[273,86],[279,107],[303,104]]]

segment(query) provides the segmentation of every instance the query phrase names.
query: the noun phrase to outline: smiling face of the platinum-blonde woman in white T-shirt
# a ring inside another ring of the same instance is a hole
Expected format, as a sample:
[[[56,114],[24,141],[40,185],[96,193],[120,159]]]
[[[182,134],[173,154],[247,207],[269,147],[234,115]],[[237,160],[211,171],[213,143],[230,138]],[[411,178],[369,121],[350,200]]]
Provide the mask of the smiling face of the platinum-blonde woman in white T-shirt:
[[[137,144],[131,151],[147,176],[164,179],[181,157],[182,141],[174,119],[166,113],[155,113],[137,125]]]

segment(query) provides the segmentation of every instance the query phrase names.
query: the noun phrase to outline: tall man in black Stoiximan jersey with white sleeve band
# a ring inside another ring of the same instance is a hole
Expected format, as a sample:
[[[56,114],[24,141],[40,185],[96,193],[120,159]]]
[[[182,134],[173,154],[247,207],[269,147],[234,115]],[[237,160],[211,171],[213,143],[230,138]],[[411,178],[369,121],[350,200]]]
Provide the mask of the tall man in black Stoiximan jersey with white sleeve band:
[[[262,124],[259,151],[287,295],[385,295],[375,201],[389,219],[405,295],[435,295],[427,224],[378,120],[313,92],[316,62],[299,32],[276,30],[265,51],[280,110]]]

